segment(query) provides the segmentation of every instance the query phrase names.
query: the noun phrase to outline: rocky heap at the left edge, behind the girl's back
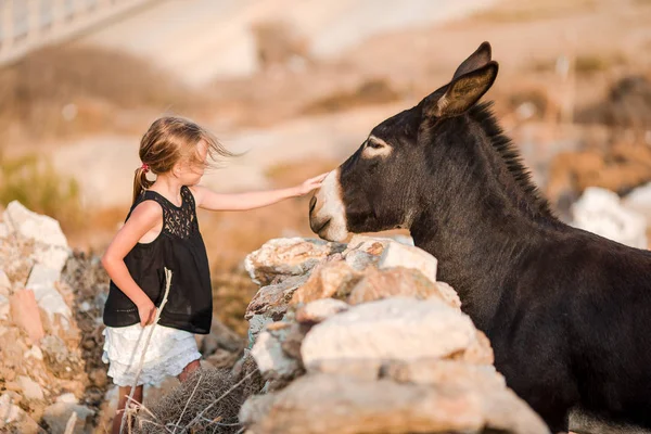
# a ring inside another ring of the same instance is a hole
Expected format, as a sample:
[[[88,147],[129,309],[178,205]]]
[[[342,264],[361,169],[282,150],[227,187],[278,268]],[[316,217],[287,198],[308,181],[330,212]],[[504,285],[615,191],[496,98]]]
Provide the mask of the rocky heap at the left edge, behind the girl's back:
[[[107,384],[105,368],[93,362],[106,283],[97,270],[71,256],[56,220],[8,205],[0,222],[0,431],[63,433],[69,422],[76,433],[91,432]]]

